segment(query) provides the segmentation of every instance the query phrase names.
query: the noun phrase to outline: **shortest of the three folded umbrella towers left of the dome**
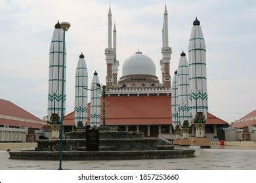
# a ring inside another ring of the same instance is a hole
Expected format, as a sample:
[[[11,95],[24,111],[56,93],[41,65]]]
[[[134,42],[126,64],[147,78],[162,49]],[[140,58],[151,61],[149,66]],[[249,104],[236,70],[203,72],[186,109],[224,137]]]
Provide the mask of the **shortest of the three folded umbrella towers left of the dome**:
[[[98,79],[98,73],[94,73],[93,80],[91,82],[91,126],[100,126],[100,80]]]

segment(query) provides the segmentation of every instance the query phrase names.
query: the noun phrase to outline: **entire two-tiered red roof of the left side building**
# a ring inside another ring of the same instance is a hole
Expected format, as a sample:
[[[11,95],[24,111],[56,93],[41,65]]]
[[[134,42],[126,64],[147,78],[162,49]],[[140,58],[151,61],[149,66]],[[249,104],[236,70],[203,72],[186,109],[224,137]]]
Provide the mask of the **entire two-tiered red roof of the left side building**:
[[[10,125],[10,126],[16,126],[16,127],[31,127],[35,129],[41,129],[43,128],[43,124],[40,123],[33,123],[33,122],[25,122],[26,120],[34,120],[37,122],[43,122],[30,112],[24,110],[23,108],[18,107],[14,103],[11,103],[10,101],[6,101],[3,99],[0,99],[0,114],[4,116],[12,116],[16,119],[3,119],[0,118],[0,125]],[[18,120],[17,118],[22,118]]]

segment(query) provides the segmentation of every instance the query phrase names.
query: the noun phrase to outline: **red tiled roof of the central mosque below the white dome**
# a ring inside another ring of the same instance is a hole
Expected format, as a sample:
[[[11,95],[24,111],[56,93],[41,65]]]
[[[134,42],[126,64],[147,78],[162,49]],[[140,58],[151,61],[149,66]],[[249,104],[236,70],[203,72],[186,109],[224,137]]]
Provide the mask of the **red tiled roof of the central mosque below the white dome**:
[[[102,103],[102,101],[101,101]],[[88,121],[90,122],[90,103]],[[101,116],[102,111],[101,111]],[[227,125],[207,114],[206,124]],[[102,124],[102,119],[101,119]],[[171,125],[171,95],[106,97],[107,125]],[[74,125],[74,112],[66,115],[64,125]]]

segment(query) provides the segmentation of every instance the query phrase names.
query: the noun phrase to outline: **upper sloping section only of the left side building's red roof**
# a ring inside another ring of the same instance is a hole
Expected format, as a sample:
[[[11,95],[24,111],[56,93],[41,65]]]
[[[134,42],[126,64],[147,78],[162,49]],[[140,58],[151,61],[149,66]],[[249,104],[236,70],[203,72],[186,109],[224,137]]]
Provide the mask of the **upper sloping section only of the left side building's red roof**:
[[[31,114],[30,112],[18,107],[10,101],[0,99],[0,114],[6,116],[15,116],[17,118],[24,118],[28,120],[41,121],[39,118]]]

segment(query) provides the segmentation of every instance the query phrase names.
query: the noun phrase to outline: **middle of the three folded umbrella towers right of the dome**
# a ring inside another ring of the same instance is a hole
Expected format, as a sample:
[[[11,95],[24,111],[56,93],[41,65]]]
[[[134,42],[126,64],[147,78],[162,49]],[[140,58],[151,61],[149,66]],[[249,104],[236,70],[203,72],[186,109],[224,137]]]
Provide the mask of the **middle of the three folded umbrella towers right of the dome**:
[[[179,110],[179,123],[181,124],[181,131],[183,139],[188,139],[188,132],[190,127],[190,114],[189,114],[189,72],[188,60],[186,54],[182,51],[179,60],[178,75],[177,75],[177,88],[178,88],[178,110]]]

